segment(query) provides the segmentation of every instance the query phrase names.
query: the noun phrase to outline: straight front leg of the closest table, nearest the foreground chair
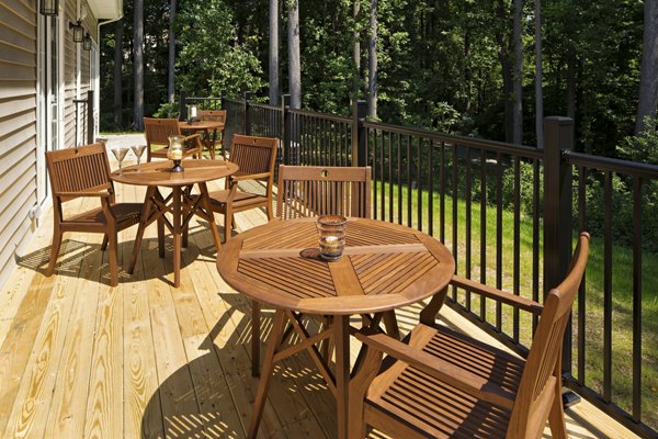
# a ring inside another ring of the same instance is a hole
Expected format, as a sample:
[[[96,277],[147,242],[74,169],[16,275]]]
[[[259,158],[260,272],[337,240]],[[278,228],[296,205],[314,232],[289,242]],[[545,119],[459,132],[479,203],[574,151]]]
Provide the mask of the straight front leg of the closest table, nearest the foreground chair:
[[[350,425],[350,316],[333,317],[333,342],[336,345],[336,409],[338,438],[348,438]]]

